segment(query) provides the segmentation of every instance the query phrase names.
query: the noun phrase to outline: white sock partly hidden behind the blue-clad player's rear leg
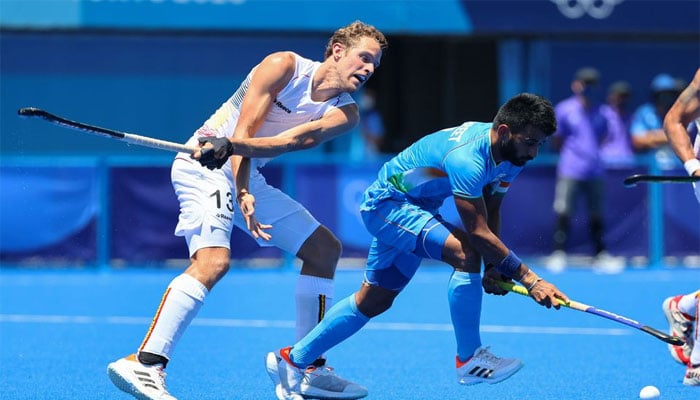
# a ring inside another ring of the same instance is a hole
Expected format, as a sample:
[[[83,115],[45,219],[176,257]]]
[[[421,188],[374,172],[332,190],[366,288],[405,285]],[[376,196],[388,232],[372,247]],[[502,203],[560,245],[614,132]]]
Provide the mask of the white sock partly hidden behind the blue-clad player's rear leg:
[[[297,304],[296,341],[321,321],[333,304],[333,280],[299,275],[294,293]]]

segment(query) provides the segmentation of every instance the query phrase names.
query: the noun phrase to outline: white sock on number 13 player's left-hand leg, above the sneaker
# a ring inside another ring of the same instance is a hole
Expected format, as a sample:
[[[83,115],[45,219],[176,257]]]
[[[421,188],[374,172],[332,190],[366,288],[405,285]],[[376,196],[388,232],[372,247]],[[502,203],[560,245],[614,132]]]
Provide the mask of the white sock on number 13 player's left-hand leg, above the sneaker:
[[[170,282],[139,352],[170,359],[178,340],[192,322],[209,291],[194,277],[182,274]]]

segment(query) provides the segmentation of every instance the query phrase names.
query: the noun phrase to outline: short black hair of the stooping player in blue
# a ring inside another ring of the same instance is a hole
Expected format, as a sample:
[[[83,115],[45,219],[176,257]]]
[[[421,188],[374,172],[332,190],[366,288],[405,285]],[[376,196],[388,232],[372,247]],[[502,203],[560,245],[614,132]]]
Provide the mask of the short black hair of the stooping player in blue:
[[[542,96],[521,93],[506,102],[493,120],[494,129],[505,124],[513,133],[523,133],[529,126],[550,136],[557,130],[557,119],[552,103]]]

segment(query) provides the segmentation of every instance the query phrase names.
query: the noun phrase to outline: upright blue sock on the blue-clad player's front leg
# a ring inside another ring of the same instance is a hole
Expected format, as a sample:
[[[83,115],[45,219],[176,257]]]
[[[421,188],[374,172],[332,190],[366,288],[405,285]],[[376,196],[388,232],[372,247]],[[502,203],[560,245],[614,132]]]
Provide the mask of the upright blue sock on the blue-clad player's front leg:
[[[481,275],[455,271],[450,277],[447,300],[457,339],[457,356],[461,361],[481,346]]]

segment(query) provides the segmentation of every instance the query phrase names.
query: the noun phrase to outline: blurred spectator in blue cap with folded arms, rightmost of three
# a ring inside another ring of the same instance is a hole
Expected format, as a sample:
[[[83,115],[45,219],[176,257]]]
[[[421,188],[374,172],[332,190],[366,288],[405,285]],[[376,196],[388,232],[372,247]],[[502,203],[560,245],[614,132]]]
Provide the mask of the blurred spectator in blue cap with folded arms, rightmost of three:
[[[653,151],[661,169],[680,166],[663,131],[664,116],[682,89],[679,84],[668,74],[657,75],[651,81],[651,101],[639,106],[632,115],[630,133],[634,150]]]

